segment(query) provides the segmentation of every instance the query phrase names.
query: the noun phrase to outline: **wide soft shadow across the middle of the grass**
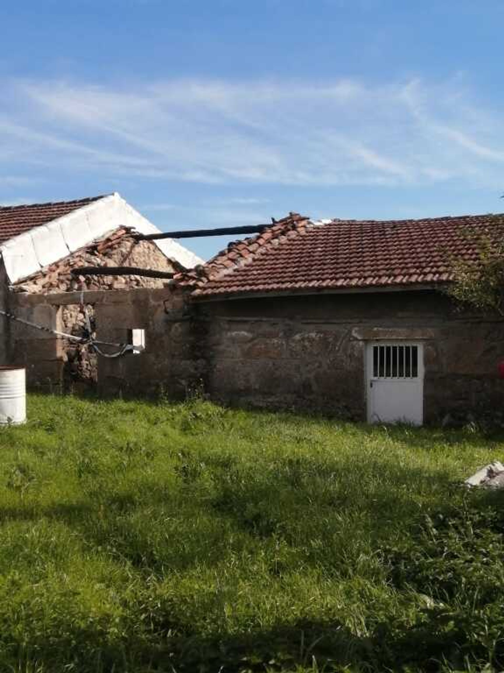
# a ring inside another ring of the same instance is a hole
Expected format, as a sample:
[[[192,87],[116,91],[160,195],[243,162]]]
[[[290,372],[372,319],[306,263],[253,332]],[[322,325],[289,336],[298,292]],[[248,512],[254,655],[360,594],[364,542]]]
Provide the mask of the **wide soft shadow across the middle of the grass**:
[[[269,542],[283,540],[294,554],[304,549],[303,563],[333,573],[340,565],[343,571],[345,555],[380,548],[391,529],[407,534],[421,507],[412,493],[422,494],[428,500],[425,510],[432,510],[462,491],[446,473],[380,460],[368,461],[366,474],[357,461],[349,468],[309,456],[276,460],[262,470],[227,456],[209,456],[201,468],[196,454],[198,469],[190,460],[185,456],[185,469],[174,468],[180,487],[175,491],[136,482],[135,491],[87,494],[80,502],[0,507],[0,522],[65,522],[91,548],[108,551],[141,573],[219,565],[230,551],[228,534],[235,551],[247,546],[246,536],[266,542],[268,550]],[[202,497],[205,479],[212,491]],[[296,569],[292,563],[287,571]]]

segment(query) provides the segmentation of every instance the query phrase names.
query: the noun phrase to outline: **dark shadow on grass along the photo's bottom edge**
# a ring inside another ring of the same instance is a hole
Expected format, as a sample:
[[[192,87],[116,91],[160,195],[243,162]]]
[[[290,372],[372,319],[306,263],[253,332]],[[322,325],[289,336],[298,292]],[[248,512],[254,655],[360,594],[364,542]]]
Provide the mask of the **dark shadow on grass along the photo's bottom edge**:
[[[401,474],[401,470],[398,473]],[[155,498],[160,495],[153,494]],[[501,492],[474,493],[474,500],[480,508],[493,507],[495,510],[496,519],[491,523],[499,535],[504,530],[501,516],[503,498]],[[128,509],[128,499],[121,500],[119,506]],[[452,501],[446,503],[447,508],[451,506]],[[87,505],[82,508],[79,505],[57,505],[44,510],[40,516],[79,521],[89,512]],[[486,523],[485,527],[489,525]],[[439,555],[444,557],[443,545],[440,545]],[[399,619],[378,610],[373,619],[368,618],[368,636],[356,635],[342,621],[317,620],[208,636],[190,624],[174,621],[170,602],[155,604],[152,614],[142,622],[136,614],[140,603],[129,604],[124,636],[120,639],[111,635],[105,625],[100,631],[94,622],[87,628],[69,621],[66,639],[54,633],[47,643],[36,645],[38,662],[46,665],[47,670],[63,670],[64,666],[70,670],[71,664],[71,670],[76,673],[95,670],[116,673],[126,670],[138,673],[173,670],[177,673],[219,670],[222,673],[264,673],[267,667],[271,671],[294,671],[296,666],[308,668],[314,658],[318,670],[327,672],[342,672],[345,667],[346,670],[362,672],[438,672],[447,670],[442,662],[454,670],[467,670],[468,662],[485,661],[485,656],[488,656],[482,643],[475,643],[468,637],[468,626],[464,621],[466,615],[462,615],[463,620],[452,627],[446,619],[446,606],[419,609],[412,619],[405,614]],[[497,604],[496,610],[492,618],[499,619]],[[14,643],[12,647],[17,647],[19,633],[17,636],[6,633],[0,636],[0,641],[7,636],[9,643]],[[18,645],[22,646],[21,643]],[[501,645],[494,658],[496,666],[504,663]],[[56,664],[61,664],[60,668]],[[30,668],[27,666],[26,670]],[[299,668],[297,670],[299,673]],[[475,666],[474,670],[480,668]]]

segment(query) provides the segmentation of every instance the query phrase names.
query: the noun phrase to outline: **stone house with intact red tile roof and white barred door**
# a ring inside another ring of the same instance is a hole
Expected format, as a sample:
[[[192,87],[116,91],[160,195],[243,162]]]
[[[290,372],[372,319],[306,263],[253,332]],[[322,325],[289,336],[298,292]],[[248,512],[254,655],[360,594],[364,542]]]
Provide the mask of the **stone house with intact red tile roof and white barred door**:
[[[292,214],[185,280],[204,382],[224,402],[370,422],[504,410],[504,322],[444,293],[503,215],[312,221]],[[502,419],[504,421],[504,418]]]

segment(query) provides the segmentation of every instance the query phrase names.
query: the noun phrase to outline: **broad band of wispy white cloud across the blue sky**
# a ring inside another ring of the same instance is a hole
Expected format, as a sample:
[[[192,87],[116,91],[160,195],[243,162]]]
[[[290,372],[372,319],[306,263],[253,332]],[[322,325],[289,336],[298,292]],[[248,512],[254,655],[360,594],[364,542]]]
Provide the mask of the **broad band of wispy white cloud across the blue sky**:
[[[16,81],[7,88],[5,176],[32,163],[208,184],[494,186],[495,165],[504,164],[503,122],[458,79],[380,86],[177,80],[128,88]]]

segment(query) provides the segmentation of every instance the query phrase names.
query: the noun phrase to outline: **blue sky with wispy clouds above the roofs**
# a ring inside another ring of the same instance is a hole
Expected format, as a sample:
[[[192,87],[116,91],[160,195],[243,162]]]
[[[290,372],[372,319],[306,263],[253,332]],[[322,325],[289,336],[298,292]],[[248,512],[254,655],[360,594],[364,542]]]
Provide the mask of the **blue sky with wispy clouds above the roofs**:
[[[0,26],[2,205],[117,191],[164,231],[504,211],[502,0],[3,0]]]

